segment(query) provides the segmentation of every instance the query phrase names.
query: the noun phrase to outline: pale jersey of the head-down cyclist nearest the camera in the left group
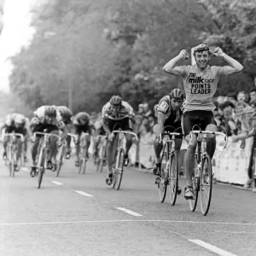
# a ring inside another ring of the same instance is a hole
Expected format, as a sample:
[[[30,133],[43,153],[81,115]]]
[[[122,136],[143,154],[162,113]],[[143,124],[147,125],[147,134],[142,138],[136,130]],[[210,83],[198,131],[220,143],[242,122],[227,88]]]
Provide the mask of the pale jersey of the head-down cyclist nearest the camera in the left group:
[[[48,106],[42,106],[34,112],[35,117],[32,118],[32,123],[37,124],[37,125],[38,124],[48,125],[45,120],[45,116],[48,114],[47,107]],[[65,126],[65,124],[63,123],[63,121],[61,119],[61,113],[57,108],[56,108],[55,120],[54,120],[53,124],[51,124],[51,125],[56,125],[58,128],[63,128]]]

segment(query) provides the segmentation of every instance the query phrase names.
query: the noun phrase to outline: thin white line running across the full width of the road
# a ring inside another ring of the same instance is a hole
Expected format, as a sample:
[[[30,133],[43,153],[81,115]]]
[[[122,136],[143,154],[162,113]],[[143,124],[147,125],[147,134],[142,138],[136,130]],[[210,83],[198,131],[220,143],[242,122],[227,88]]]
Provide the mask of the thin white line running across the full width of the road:
[[[221,222],[196,222],[179,220],[161,220],[161,219],[113,219],[113,220],[81,220],[81,221],[55,221],[55,222],[21,222],[21,223],[0,223],[0,226],[8,225],[32,225],[32,224],[90,224],[90,223],[128,223],[128,222],[151,222],[151,223],[186,223],[186,224],[237,224],[237,225],[256,225],[256,223],[221,223]]]

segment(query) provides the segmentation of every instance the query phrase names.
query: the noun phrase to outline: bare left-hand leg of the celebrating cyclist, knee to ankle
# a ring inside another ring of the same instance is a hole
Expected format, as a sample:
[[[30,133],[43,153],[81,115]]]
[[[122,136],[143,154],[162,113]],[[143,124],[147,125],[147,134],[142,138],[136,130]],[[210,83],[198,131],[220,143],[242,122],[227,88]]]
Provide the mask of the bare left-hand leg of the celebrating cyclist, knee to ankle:
[[[189,144],[184,160],[184,171],[186,175],[186,185],[192,186],[192,172],[195,168],[195,149],[196,149],[196,136],[193,134],[192,140],[189,143],[189,135],[185,137],[186,142]]]

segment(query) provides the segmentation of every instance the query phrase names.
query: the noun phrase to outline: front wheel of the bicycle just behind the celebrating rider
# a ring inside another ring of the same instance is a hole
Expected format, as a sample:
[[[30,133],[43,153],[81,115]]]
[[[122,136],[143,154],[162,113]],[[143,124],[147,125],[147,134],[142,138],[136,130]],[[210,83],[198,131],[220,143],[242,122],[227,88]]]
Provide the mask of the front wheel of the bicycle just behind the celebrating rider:
[[[169,167],[169,186],[170,203],[171,206],[174,206],[177,200],[178,189],[178,162],[176,151],[171,156],[171,165]]]

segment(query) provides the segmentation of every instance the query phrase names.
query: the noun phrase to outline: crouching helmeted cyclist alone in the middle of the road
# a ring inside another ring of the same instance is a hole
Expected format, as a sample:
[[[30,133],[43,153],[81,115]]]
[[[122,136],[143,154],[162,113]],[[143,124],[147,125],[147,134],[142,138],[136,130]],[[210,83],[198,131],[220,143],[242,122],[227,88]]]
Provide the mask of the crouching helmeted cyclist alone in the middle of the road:
[[[106,183],[111,185],[113,179],[113,162],[114,162],[114,139],[112,137],[112,131],[132,131],[134,122],[133,108],[122,100],[120,96],[112,96],[110,101],[102,108],[103,128],[108,135],[108,147],[107,147],[107,162],[108,162],[108,177]],[[124,156],[124,166],[128,166],[128,153],[132,145],[132,137],[130,134],[125,134],[126,147]]]

